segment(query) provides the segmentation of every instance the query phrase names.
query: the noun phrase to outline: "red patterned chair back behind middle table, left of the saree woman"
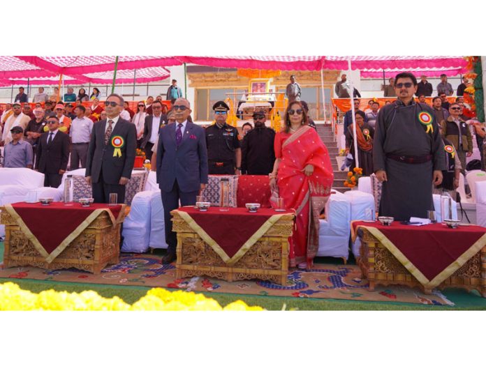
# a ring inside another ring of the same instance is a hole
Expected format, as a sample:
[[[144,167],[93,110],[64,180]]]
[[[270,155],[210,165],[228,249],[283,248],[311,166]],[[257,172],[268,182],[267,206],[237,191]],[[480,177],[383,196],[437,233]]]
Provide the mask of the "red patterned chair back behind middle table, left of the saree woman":
[[[240,176],[237,188],[237,206],[257,203],[262,207],[270,207],[270,182],[268,176]]]

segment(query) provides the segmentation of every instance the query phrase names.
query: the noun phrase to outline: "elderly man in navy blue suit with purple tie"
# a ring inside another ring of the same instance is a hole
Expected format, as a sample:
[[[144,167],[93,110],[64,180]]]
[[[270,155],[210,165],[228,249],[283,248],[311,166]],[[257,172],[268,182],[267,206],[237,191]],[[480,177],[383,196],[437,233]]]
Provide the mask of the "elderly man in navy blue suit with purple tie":
[[[168,250],[163,264],[175,261],[177,236],[172,232],[170,211],[196,204],[196,196],[207,184],[207,148],[204,129],[187,119],[191,114],[188,100],[178,98],[172,107],[175,123],[159,132],[157,148],[157,183],[161,188],[165,241]]]

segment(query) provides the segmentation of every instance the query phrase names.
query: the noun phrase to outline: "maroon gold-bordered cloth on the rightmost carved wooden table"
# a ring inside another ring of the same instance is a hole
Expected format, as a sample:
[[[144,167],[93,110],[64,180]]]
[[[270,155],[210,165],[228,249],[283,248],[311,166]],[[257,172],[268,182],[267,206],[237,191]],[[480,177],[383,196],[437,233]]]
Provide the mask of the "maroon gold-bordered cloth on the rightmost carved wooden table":
[[[486,228],[443,224],[420,227],[392,222],[354,221],[353,237],[366,228],[425,287],[436,287],[461,268],[486,245]]]

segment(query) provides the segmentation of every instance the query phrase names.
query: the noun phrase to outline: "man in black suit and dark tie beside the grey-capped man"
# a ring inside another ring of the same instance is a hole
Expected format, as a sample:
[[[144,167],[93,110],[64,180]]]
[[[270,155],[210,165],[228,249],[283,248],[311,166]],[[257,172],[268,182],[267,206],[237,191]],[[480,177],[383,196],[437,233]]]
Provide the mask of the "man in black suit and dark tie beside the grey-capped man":
[[[57,116],[50,116],[47,125],[49,130],[39,137],[36,170],[44,174],[44,187],[57,188],[68,169],[69,137],[59,131]]]

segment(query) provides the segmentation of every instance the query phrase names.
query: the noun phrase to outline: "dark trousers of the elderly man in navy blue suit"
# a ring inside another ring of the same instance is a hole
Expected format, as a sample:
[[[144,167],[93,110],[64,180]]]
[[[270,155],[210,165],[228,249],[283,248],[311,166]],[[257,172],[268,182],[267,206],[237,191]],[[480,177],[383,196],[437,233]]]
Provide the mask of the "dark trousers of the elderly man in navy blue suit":
[[[177,234],[172,231],[172,215],[170,215],[170,211],[179,208],[179,199],[181,201],[181,206],[196,205],[196,196],[198,193],[198,190],[194,192],[181,192],[177,180],[174,182],[170,192],[161,190],[163,218],[165,221],[165,241],[167,242],[167,251],[169,253],[175,254],[175,249],[177,248]]]

